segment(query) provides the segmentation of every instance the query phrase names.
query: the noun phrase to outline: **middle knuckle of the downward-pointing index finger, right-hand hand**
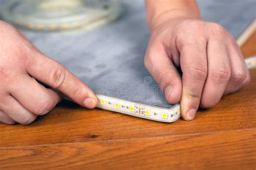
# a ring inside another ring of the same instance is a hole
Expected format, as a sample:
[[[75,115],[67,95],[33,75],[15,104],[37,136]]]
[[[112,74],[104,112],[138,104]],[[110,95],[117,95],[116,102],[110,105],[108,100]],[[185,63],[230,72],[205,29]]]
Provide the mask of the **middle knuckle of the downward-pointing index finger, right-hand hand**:
[[[203,64],[192,65],[190,67],[190,75],[193,79],[205,81],[207,77],[207,66]]]

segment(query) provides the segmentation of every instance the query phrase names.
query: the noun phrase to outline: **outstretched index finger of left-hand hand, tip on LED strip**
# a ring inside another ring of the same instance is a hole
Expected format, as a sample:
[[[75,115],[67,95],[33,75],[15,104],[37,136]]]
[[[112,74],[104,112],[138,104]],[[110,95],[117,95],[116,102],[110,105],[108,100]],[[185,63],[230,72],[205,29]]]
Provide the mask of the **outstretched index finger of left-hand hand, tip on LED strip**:
[[[97,97],[93,91],[48,56],[35,52],[35,55],[29,58],[26,70],[32,77],[59,90],[74,102],[90,109],[96,107]]]

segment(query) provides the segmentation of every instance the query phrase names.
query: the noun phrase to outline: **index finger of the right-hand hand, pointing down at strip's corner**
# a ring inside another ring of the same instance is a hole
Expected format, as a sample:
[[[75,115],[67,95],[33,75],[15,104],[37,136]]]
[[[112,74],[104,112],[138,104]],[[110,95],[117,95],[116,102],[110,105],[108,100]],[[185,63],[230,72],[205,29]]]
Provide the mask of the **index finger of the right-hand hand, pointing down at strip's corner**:
[[[181,115],[190,121],[196,115],[207,77],[206,43],[194,42],[180,48],[180,66],[183,72]]]

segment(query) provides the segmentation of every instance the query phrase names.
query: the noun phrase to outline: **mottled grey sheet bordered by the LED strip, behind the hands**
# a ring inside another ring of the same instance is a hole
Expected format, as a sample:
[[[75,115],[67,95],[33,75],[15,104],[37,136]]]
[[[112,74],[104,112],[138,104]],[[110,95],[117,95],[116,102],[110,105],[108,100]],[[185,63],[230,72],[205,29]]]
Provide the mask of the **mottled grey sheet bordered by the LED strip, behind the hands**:
[[[143,65],[150,38],[144,1],[122,1],[117,22],[90,32],[64,34],[22,30],[43,53],[62,63],[96,94],[171,108]],[[255,15],[256,1],[199,1],[204,19],[235,37]]]

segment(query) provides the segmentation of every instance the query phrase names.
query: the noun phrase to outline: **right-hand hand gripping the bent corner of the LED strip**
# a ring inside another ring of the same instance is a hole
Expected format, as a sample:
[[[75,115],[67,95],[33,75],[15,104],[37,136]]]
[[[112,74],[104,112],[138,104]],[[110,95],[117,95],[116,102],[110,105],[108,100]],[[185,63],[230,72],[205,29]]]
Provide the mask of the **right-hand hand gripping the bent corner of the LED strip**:
[[[151,26],[145,67],[169,103],[180,101],[186,121],[199,105],[213,107],[221,96],[250,82],[240,48],[222,26],[192,17],[160,20]]]

